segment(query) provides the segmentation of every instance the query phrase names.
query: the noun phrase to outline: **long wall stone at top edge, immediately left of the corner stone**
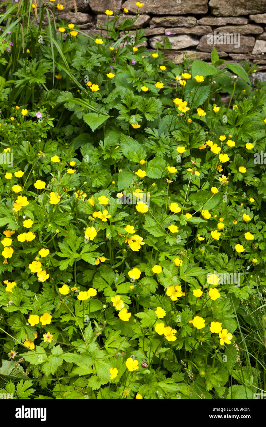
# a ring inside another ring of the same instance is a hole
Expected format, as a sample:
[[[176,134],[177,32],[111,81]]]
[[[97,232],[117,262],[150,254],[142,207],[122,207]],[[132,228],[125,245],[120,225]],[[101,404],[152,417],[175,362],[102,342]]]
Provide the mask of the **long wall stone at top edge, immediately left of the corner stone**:
[[[135,0],[127,0],[123,3],[129,12],[137,12]],[[177,3],[176,0],[145,0],[138,13],[152,13],[153,15],[186,15],[195,12],[197,14],[208,12],[208,0],[186,0]]]

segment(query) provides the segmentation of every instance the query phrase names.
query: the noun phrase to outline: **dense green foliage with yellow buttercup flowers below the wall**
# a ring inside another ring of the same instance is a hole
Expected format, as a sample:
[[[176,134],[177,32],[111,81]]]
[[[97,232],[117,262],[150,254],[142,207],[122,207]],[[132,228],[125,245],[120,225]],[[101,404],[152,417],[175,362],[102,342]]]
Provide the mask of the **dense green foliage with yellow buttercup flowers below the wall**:
[[[212,64],[176,65],[108,10],[92,38],[55,25],[60,4],[7,5],[0,393],[259,398],[266,85],[251,86],[255,66],[215,48]]]

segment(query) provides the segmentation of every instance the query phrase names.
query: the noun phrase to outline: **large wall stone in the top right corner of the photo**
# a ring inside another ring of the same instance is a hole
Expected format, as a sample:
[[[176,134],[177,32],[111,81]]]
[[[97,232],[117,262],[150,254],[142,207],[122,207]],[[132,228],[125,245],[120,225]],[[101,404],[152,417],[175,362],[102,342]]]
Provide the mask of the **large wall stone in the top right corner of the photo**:
[[[239,16],[249,13],[266,12],[266,2],[263,0],[210,0],[209,6],[216,16]]]

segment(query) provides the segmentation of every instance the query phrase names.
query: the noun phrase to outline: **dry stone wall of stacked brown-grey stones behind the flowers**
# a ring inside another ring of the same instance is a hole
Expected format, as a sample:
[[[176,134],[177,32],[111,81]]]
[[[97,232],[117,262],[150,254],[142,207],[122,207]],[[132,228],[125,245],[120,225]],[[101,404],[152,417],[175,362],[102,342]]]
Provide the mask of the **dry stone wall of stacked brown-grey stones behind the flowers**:
[[[266,0],[142,1],[134,29],[145,29],[146,45],[151,50],[157,42],[164,44],[167,37],[172,47],[166,50],[166,56],[175,63],[182,61],[184,50],[189,58],[210,61],[213,44],[221,58],[236,63],[257,62],[266,53]],[[106,9],[127,17],[134,17],[137,11],[134,0],[61,0],[61,3],[64,10],[59,12],[57,20],[78,24],[89,35],[99,33],[105,24]],[[124,8],[129,11],[126,15]],[[257,71],[266,71],[266,55]]]

